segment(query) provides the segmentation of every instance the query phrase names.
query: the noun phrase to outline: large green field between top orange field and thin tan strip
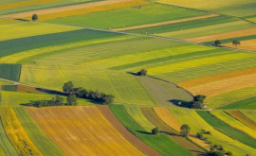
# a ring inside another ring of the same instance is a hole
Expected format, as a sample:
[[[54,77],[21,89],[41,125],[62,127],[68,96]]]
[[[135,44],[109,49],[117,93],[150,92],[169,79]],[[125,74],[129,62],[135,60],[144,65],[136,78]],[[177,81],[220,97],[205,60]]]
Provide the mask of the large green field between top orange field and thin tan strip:
[[[49,20],[47,22],[71,26],[88,26],[112,29],[123,26],[138,26],[180,18],[188,18],[204,14],[206,14],[206,12],[199,10],[181,9],[168,5],[151,4],[141,6],[140,9],[114,9]]]

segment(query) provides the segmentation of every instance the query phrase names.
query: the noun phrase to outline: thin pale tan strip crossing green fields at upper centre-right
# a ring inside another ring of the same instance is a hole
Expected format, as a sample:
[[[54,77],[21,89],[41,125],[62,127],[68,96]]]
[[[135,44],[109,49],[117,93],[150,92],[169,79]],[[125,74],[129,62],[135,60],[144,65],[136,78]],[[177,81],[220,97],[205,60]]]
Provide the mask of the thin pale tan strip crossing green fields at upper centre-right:
[[[194,21],[194,20],[200,20],[200,19],[206,19],[210,17],[217,17],[219,14],[212,13],[209,15],[203,15],[203,16],[196,16],[191,18],[185,18],[180,20],[172,20],[172,21],[165,21],[160,23],[154,23],[154,24],[148,24],[148,25],[140,25],[140,26],[130,26],[130,27],[123,27],[123,28],[116,28],[112,29],[114,31],[126,31],[126,30],[132,30],[132,29],[138,29],[138,28],[145,28],[145,27],[152,27],[152,26],[163,26],[163,25],[172,25],[176,23],[182,23],[182,22],[188,22],[188,21]]]

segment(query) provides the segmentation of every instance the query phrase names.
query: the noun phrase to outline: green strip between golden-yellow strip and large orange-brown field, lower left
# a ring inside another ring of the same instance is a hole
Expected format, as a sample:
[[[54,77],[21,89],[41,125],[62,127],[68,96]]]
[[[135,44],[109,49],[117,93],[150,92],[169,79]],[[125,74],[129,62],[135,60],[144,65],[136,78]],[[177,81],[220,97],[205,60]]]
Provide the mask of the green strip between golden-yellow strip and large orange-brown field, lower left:
[[[14,107],[13,110],[19,118],[22,127],[26,130],[28,137],[44,155],[64,155],[64,152],[47,138],[46,134],[37,126],[24,107]]]

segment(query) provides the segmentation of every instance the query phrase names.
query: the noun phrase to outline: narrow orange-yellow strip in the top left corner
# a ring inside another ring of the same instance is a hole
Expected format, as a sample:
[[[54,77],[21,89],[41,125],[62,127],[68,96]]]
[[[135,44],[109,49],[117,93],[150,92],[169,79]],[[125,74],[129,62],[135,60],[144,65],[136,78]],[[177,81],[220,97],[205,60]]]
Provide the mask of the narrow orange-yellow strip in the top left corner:
[[[16,2],[16,3],[1,5],[0,9],[27,7],[27,6],[39,5],[39,4],[49,3],[49,2],[57,2],[57,1],[61,1],[61,0],[30,0],[30,1],[23,1],[23,2]]]

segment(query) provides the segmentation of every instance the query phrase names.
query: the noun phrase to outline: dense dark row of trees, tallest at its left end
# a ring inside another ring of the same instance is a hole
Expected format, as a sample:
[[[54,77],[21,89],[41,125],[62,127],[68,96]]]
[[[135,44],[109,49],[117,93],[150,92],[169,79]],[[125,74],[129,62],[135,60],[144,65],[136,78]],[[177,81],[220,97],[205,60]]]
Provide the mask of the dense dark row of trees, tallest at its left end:
[[[74,95],[79,98],[94,100],[105,105],[111,104],[115,98],[114,95],[106,95],[99,91],[86,90],[82,87],[76,88],[72,81],[64,83],[63,91],[65,95]]]

